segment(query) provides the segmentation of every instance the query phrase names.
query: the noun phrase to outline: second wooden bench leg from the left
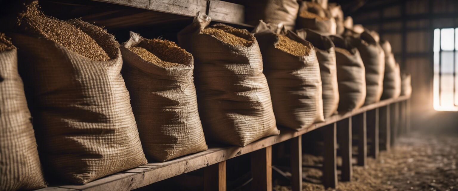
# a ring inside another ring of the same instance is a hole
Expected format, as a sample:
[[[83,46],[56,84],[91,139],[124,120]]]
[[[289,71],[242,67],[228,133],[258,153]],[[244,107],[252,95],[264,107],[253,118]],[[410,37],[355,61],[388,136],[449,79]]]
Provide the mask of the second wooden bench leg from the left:
[[[272,146],[251,153],[251,190],[272,191]]]

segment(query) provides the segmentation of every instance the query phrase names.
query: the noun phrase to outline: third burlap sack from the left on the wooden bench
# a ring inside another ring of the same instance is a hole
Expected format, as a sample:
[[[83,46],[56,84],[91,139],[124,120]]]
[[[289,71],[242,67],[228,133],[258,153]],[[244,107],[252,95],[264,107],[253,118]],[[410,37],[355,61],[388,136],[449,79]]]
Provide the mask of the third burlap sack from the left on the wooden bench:
[[[122,75],[131,94],[143,151],[148,160],[156,161],[207,150],[197,112],[193,57],[179,47],[164,48],[165,44],[131,33],[121,46]],[[145,48],[160,59],[173,54],[164,61],[178,65],[168,67],[143,60],[129,50],[131,47]]]

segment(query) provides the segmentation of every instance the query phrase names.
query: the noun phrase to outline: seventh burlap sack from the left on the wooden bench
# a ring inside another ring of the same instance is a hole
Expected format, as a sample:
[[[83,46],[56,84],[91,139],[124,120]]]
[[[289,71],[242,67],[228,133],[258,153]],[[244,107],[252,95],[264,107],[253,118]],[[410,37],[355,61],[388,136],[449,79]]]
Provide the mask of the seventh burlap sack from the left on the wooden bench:
[[[330,36],[336,49],[339,112],[360,108],[366,97],[366,77],[358,49],[340,36]]]

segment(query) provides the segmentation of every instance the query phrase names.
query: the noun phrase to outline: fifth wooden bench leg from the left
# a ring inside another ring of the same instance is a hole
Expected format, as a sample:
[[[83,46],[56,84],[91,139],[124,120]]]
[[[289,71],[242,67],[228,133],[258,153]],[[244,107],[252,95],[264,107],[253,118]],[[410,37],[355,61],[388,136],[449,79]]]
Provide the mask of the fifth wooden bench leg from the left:
[[[339,151],[342,157],[342,181],[350,181],[352,175],[351,168],[351,117],[337,122],[339,132]]]

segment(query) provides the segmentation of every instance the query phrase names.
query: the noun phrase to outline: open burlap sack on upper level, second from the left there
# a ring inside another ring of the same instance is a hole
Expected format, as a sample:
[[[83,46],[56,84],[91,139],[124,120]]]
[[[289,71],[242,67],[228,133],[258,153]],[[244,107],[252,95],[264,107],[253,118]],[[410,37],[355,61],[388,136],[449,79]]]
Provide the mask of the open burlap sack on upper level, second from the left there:
[[[321,5],[309,1],[300,3],[296,28],[309,28],[322,33],[336,34],[336,27],[336,21],[331,13]]]

